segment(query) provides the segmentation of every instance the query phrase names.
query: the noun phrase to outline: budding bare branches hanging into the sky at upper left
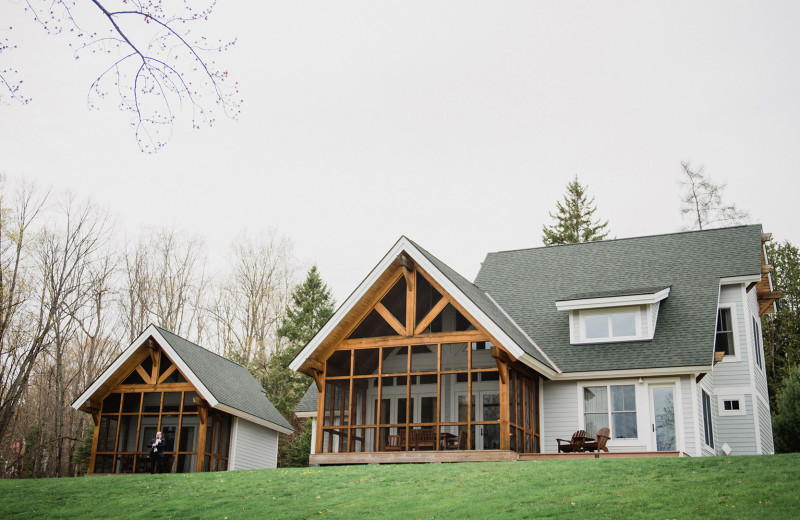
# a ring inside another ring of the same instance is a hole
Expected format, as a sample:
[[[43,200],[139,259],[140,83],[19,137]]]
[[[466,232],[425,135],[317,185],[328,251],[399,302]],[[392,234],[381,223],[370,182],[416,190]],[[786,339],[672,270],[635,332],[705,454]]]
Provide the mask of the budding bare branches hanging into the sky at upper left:
[[[212,42],[192,28],[208,20],[216,1],[161,0],[26,0],[21,2],[49,34],[74,38],[75,58],[102,57],[102,72],[89,88],[90,107],[115,94],[119,108],[130,112],[142,151],[166,144],[177,112],[185,105],[192,126],[212,125],[218,112],[236,118],[240,112],[238,84],[211,59],[234,41]],[[4,28],[5,29],[5,28]],[[13,29],[12,28],[9,28]],[[0,53],[15,48],[6,36]],[[27,103],[19,71],[0,69],[0,88]],[[210,99],[206,99],[210,98]]]

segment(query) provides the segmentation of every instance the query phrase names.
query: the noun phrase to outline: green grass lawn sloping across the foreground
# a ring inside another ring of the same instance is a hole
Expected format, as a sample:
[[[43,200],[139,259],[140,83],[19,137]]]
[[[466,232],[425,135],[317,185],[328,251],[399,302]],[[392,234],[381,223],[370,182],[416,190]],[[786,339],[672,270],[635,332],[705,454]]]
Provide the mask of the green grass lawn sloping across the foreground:
[[[0,518],[800,518],[800,454],[0,481]]]

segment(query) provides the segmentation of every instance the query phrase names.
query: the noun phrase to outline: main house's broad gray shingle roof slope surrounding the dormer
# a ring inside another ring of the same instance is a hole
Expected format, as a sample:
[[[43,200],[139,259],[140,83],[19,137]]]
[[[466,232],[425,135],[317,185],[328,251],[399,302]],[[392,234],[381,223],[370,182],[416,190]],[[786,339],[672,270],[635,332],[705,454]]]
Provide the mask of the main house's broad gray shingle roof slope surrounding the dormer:
[[[710,365],[719,281],[760,275],[761,226],[490,253],[475,280],[564,372]],[[570,345],[563,295],[671,287],[651,341]],[[524,344],[520,344],[524,347]]]

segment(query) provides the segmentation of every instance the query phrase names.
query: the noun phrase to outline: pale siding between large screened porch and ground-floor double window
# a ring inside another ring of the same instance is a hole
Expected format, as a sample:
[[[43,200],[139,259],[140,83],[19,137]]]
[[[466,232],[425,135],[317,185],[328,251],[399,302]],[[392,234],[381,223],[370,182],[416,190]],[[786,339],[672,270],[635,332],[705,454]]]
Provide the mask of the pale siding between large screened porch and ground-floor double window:
[[[542,388],[542,452],[556,453],[556,438],[570,439],[578,429],[578,385],[545,381]]]

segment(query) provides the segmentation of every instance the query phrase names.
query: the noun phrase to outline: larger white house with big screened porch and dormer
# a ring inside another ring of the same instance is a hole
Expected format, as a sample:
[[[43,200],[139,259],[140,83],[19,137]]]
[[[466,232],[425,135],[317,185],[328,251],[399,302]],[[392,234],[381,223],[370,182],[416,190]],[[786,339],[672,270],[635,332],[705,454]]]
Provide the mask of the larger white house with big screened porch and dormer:
[[[760,226],[490,253],[474,283],[402,237],[291,368],[311,464],[772,453]]]

